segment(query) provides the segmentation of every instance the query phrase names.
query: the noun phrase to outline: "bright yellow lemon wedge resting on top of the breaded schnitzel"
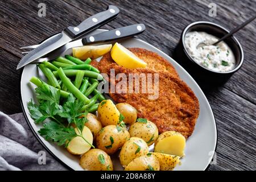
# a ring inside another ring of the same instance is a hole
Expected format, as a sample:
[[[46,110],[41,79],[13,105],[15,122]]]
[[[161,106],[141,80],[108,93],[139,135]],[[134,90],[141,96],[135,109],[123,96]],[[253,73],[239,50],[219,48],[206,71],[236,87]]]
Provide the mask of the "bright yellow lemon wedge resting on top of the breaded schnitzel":
[[[114,44],[111,50],[111,56],[115,63],[125,68],[145,68],[147,66],[147,63],[118,43]]]

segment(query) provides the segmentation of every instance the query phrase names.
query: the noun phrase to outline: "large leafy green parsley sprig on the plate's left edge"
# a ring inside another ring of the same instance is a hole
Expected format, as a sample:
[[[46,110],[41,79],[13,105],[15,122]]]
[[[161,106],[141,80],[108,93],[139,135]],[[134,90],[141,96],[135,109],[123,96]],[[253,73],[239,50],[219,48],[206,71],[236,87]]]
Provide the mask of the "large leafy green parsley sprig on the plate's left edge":
[[[31,118],[35,120],[35,123],[43,123],[46,119],[49,119],[38,131],[40,135],[60,146],[65,145],[65,147],[73,138],[81,137],[94,148],[82,136],[84,123],[87,121],[85,116],[88,113],[87,111],[80,111],[84,105],[81,101],[76,100],[72,94],[69,94],[67,100],[63,101],[63,106],[60,105],[60,90],[44,82],[42,82],[42,86],[35,89],[35,92],[39,104],[34,104],[32,100],[28,102]],[[77,127],[78,132],[76,132],[75,127]]]

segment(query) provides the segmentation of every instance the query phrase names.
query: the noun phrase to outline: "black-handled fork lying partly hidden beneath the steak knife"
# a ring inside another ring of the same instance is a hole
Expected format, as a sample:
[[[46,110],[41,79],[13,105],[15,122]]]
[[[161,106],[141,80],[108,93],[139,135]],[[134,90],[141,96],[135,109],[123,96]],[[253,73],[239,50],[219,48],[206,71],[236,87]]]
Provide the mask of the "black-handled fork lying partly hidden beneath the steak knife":
[[[46,55],[47,57],[39,58],[38,60],[35,60],[34,63],[41,63],[43,61],[56,59],[56,57],[63,55],[65,51],[73,47],[79,47],[79,46],[85,46],[88,44],[110,42],[112,40],[129,38],[131,36],[141,34],[145,30],[145,28],[146,27],[144,26],[144,24],[133,24],[131,26],[115,28],[113,30],[105,31],[100,34],[86,36],[85,38],[78,39],[73,42],[69,42],[64,46],[61,46],[60,48],[55,49],[55,51],[52,51],[48,55]],[[21,47],[20,49],[32,49],[37,46],[39,45]],[[27,52],[23,52],[23,53],[27,53]]]

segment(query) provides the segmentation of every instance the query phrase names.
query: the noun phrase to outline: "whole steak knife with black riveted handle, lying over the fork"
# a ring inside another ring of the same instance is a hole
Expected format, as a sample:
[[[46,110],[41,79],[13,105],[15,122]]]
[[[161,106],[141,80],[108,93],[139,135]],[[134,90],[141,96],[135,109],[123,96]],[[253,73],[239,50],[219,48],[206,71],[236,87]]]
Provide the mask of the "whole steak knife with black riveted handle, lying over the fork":
[[[22,68],[24,65],[27,65],[32,61],[46,55],[47,53],[52,52],[53,50],[71,42],[72,40],[79,38],[81,35],[84,35],[85,33],[95,30],[103,24],[108,23],[110,20],[113,20],[118,15],[118,13],[118,7],[110,5],[106,11],[102,11],[101,13],[90,16],[82,23],[80,23],[79,26],[69,26],[65,28],[65,30],[60,34],[57,34],[54,36],[54,38],[51,38],[40,44],[40,46],[36,47],[26,56],[24,56],[20,60],[16,69]]]

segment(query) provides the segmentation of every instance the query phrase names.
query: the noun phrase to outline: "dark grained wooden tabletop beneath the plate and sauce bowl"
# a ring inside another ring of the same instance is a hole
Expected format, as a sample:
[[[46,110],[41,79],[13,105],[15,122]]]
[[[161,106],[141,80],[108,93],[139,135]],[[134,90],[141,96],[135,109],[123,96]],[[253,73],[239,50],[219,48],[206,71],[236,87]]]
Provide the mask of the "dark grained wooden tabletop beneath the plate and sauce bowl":
[[[46,4],[46,17],[38,16],[38,4]],[[217,16],[208,5],[217,5]],[[102,28],[133,23],[146,24],[139,38],[172,56],[183,28],[197,20],[209,20],[231,29],[256,12],[256,1],[16,1],[0,0],[0,111],[22,111],[19,105],[19,47],[39,43],[69,25],[113,4],[121,10],[117,19]],[[256,21],[237,32],[245,63],[224,86],[206,90],[218,129],[217,164],[209,170],[256,170]]]

